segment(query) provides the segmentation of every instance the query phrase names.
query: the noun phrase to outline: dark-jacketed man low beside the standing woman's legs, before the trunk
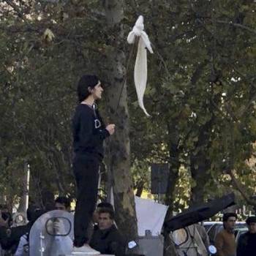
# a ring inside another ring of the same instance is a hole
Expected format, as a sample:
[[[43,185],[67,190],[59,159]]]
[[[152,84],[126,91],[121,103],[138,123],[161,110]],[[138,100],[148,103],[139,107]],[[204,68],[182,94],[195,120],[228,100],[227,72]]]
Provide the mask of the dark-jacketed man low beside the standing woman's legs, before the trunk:
[[[102,254],[123,256],[125,253],[124,238],[114,224],[114,211],[101,208],[98,211],[99,228],[92,234],[90,246]]]

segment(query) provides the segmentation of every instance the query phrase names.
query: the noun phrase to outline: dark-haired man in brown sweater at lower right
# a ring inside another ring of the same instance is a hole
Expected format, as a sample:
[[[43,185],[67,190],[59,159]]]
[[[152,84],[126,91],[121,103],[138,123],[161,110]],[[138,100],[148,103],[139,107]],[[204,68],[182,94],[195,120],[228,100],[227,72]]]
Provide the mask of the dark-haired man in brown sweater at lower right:
[[[236,219],[235,213],[223,215],[224,230],[217,233],[215,238],[218,256],[236,256],[236,238],[234,235]]]

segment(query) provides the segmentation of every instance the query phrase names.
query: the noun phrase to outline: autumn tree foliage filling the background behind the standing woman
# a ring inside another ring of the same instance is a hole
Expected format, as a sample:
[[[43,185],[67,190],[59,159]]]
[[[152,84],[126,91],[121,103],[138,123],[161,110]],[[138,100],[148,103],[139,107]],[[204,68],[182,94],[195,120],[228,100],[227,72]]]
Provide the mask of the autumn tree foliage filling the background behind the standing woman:
[[[151,162],[169,162],[176,209],[187,205],[191,188],[201,187],[205,198],[229,191],[223,175],[230,170],[252,195],[255,169],[246,159],[256,138],[255,1],[126,2],[125,33],[142,14],[154,47],[145,95],[151,118],[138,108],[127,63],[135,187],[149,188]],[[113,50],[102,3],[4,1],[0,13],[1,194],[20,196],[29,162],[34,200],[45,189],[74,196],[75,83],[84,72],[106,77]]]

